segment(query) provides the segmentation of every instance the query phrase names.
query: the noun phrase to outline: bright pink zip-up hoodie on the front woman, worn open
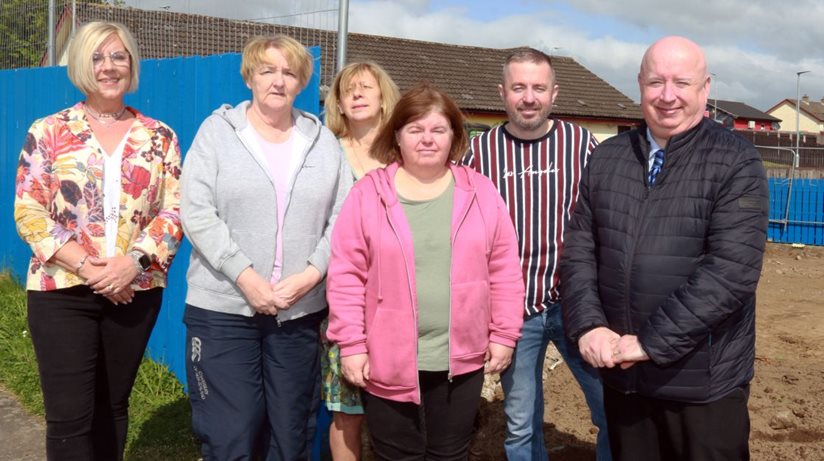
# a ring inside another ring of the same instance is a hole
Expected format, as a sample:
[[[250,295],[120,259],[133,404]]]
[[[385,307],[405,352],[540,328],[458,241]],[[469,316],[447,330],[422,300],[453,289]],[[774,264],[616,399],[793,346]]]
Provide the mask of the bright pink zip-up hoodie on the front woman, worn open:
[[[489,342],[515,347],[523,326],[518,240],[495,186],[450,165],[455,179],[450,269],[449,375],[484,365]],[[366,390],[420,404],[418,305],[412,234],[394,163],[358,181],[332,234],[326,297],[341,356],[368,354]]]

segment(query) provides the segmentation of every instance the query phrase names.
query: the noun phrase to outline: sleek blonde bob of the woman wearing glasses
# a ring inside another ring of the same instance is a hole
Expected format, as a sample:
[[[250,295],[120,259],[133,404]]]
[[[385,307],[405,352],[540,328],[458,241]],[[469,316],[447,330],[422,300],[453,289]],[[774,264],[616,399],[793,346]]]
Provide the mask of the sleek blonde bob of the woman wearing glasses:
[[[97,91],[97,78],[94,76],[92,54],[97,51],[103,42],[112,35],[123,42],[126,52],[129,53],[131,84],[128,91],[137,90],[140,79],[140,52],[134,36],[123,24],[108,21],[93,21],[84,24],[77,30],[77,34],[69,44],[67,72],[69,80],[78,90],[89,95]]]

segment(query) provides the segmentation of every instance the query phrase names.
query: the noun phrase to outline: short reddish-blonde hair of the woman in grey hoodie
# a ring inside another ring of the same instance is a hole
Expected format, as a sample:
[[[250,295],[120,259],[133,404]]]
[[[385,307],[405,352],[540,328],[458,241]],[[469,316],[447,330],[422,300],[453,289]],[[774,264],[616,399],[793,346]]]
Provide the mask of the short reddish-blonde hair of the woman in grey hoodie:
[[[312,76],[312,55],[297,40],[286,35],[273,37],[252,37],[243,46],[243,58],[240,63],[240,75],[243,81],[250,83],[252,75],[269,60],[266,50],[274,48],[283,54],[289,68],[298,76],[301,88],[305,87]]]

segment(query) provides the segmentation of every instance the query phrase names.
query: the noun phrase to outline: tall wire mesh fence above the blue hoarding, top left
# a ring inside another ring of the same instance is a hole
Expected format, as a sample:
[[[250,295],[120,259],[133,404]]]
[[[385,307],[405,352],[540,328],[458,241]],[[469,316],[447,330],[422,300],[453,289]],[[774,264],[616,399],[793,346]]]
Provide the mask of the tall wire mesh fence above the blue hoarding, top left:
[[[49,65],[50,51],[53,62],[60,64],[76,27],[94,20],[126,24],[141,37],[138,45],[144,58],[239,52],[246,37],[272,33],[286,33],[324,50],[336,45],[339,0],[272,2],[288,5],[276,14],[265,7],[245,13],[239,5],[232,17],[233,36],[227,34],[225,19],[202,14],[205,2],[186,2],[182,12],[158,8],[156,3],[133,0],[126,8],[113,6],[123,4],[118,0],[0,0],[0,69]],[[334,53],[323,53],[321,66],[327,75],[335,75]]]

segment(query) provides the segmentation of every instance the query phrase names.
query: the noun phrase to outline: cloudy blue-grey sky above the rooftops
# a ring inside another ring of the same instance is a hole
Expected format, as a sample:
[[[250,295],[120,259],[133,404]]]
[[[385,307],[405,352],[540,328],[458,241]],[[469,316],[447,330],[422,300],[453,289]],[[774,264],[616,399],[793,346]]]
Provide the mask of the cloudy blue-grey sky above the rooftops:
[[[239,19],[310,17],[337,24],[337,0],[126,0],[127,5]],[[821,0],[350,0],[349,31],[490,48],[529,45],[570,56],[638,100],[644,50],[664,35],[704,48],[715,74],[710,98],[766,111],[801,94],[824,98]],[[563,91],[563,88],[561,89]]]

